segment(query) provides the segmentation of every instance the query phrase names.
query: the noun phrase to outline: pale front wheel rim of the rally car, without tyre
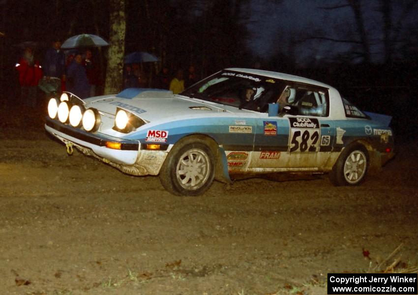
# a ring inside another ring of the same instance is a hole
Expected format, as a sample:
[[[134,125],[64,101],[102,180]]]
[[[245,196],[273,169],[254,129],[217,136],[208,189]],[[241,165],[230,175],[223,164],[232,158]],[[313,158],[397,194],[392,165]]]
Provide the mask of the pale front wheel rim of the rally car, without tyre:
[[[209,178],[210,161],[201,149],[189,149],[183,153],[176,167],[177,181],[187,190],[201,188]]]

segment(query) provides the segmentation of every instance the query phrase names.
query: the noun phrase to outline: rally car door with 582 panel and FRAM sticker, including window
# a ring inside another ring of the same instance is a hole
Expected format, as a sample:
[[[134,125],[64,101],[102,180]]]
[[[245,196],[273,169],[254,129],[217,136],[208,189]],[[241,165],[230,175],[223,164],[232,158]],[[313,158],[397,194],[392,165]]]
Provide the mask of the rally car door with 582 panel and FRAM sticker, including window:
[[[318,170],[328,160],[335,133],[332,120],[327,118],[328,92],[295,83],[289,88],[287,103],[296,107],[298,114],[266,114],[259,119],[250,166],[253,169]]]

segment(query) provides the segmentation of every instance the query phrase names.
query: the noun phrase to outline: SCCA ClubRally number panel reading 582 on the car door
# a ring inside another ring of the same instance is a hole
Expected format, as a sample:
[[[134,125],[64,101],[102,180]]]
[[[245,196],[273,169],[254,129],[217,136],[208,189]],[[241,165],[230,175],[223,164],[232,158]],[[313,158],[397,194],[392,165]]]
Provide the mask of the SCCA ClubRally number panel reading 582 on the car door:
[[[289,118],[289,151],[318,151],[321,129],[316,118]]]

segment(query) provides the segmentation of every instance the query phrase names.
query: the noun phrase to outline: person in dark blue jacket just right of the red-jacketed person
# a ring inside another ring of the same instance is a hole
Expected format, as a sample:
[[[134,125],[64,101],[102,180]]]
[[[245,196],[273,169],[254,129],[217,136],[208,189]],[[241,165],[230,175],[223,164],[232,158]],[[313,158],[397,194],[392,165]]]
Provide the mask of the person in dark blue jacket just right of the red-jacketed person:
[[[46,77],[61,79],[62,89],[65,85],[65,55],[61,50],[61,42],[54,40],[45,54],[43,63],[44,74]]]

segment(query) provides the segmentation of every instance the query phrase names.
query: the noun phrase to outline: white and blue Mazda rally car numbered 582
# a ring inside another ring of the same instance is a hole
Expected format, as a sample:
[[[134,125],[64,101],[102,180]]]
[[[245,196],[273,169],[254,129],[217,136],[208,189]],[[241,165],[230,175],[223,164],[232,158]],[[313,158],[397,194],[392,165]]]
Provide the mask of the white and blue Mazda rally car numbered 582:
[[[228,68],[177,95],[64,92],[48,115],[46,130],[68,151],[159,175],[176,195],[239,174],[329,173],[335,185],[357,185],[393,156],[391,117],[361,112],[326,84],[262,70]]]

